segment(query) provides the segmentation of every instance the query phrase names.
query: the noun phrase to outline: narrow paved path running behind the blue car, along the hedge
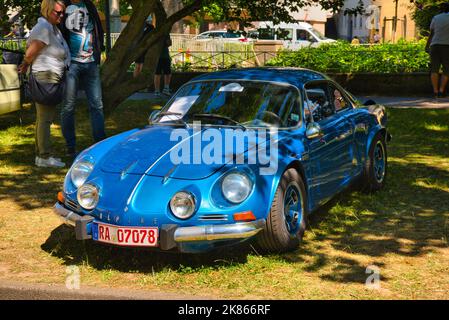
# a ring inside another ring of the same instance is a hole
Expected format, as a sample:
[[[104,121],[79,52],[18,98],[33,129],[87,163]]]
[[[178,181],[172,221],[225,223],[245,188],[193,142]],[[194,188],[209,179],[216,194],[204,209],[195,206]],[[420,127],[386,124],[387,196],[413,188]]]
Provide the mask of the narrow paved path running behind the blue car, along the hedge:
[[[392,108],[426,108],[449,109],[449,98],[435,100],[432,97],[382,97],[382,96],[357,96],[361,102],[369,99]],[[138,92],[128,98],[129,100],[160,100],[165,103],[169,97],[157,97],[149,92]]]

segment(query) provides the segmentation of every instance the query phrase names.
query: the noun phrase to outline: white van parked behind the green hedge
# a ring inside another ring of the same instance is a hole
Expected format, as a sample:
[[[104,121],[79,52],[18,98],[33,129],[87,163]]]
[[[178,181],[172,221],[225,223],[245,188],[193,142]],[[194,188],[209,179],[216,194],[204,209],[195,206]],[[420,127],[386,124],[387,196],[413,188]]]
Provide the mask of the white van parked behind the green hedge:
[[[257,31],[258,40],[281,40],[284,48],[291,50],[335,42],[335,40],[323,36],[311,24],[306,22],[282,22],[278,25],[273,25],[270,21],[264,21],[259,23]]]

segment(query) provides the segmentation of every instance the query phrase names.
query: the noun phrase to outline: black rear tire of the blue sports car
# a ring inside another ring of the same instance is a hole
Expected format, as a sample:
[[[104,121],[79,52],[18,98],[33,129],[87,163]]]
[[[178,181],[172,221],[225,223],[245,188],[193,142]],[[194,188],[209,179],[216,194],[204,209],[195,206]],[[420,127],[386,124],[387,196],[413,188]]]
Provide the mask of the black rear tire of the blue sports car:
[[[384,159],[383,172],[379,171],[375,161],[379,158],[378,153],[382,153]],[[384,135],[380,132],[374,137],[371,142],[368,159],[365,162],[365,167],[362,174],[362,190],[365,192],[375,192],[383,188],[387,179],[387,144]]]

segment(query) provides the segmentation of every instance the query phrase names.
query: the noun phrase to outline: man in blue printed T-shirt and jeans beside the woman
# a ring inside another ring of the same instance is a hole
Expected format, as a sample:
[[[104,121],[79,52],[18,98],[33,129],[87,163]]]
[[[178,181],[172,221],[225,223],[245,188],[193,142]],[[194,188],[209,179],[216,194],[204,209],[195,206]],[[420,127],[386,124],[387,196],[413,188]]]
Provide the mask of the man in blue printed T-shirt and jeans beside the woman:
[[[66,78],[66,93],[61,111],[62,134],[66,140],[66,155],[76,156],[75,104],[82,84],[89,105],[92,135],[95,142],[106,136],[101,95],[100,60],[104,50],[104,33],[97,9],[91,0],[65,1],[66,15],[61,30],[71,54]]]

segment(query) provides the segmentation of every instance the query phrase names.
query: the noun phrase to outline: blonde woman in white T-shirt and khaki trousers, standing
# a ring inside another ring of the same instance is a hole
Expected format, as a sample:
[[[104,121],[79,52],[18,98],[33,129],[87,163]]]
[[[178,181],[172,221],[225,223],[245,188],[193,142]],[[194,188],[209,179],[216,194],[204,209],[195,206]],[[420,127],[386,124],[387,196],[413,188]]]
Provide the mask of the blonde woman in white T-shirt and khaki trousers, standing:
[[[70,63],[70,52],[61,32],[56,27],[64,16],[65,5],[59,0],[43,0],[42,17],[31,30],[27,50],[20,73],[31,73],[37,82],[57,84],[63,81]],[[56,105],[36,102],[36,158],[38,167],[64,167],[60,159],[51,156],[50,125],[53,122]]]

